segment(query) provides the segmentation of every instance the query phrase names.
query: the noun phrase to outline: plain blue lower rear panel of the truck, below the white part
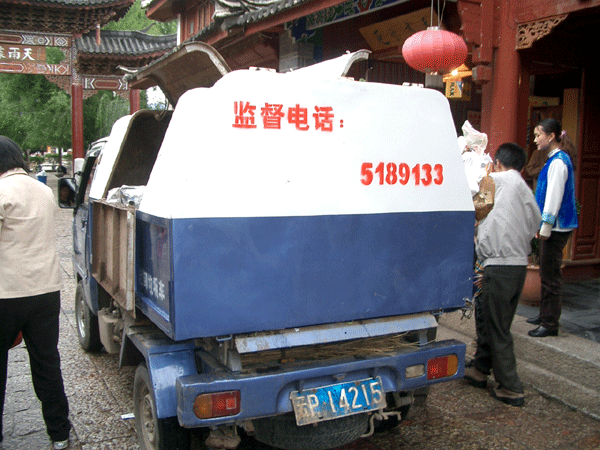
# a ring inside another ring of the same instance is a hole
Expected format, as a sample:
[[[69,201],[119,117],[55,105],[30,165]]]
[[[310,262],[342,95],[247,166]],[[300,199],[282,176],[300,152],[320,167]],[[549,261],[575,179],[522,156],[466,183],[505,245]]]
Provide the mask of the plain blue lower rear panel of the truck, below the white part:
[[[165,332],[180,340],[461,307],[473,221],[470,211],[176,219],[171,272],[156,243],[143,245],[162,261]]]

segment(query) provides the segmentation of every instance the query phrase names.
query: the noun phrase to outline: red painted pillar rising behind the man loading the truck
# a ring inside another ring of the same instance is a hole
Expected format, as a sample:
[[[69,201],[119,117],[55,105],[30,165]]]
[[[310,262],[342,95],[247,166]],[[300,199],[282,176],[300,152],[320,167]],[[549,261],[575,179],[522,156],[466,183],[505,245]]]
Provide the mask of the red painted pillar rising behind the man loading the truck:
[[[483,86],[481,100],[482,108],[488,110],[487,114],[482,111],[481,128],[488,134],[491,154],[504,142],[517,142],[520,73],[520,58],[516,50],[515,2],[496,1],[495,6],[500,17],[496,22],[498,47],[492,63],[492,81]]]

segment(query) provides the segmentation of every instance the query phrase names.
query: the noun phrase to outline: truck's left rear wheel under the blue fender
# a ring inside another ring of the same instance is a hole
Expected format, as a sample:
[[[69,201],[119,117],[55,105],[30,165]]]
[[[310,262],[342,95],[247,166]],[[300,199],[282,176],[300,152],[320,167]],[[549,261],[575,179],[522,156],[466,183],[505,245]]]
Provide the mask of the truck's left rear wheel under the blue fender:
[[[133,380],[133,413],[141,450],[189,450],[190,432],[179,425],[177,417],[156,417],[154,390],[144,363]]]

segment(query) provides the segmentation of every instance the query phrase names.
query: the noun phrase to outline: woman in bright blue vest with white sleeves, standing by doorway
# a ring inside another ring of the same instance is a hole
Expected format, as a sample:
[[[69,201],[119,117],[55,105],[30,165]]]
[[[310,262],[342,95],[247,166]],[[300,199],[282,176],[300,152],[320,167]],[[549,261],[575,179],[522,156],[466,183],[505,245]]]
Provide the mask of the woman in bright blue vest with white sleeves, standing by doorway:
[[[548,160],[537,182],[535,198],[542,211],[540,276],[542,299],[539,316],[527,322],[538,325],[533,337],[558,336],[562,306],[561,265],[563,249],[577,228],[575,206],[575,147],[555,119],[542,120],[534,131],[538,151],[547,151]]]

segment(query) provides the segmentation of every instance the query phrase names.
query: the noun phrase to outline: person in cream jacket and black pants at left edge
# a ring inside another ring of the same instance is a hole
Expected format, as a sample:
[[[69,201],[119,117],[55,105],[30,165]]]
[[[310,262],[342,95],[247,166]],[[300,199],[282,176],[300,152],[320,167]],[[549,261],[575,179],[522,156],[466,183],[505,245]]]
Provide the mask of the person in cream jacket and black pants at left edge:
[[[68,448],[69,405],[58,353],[62,278],[52,190],[31,178],[19,146],[0,136],[0,441],[8,351],[19,331],[54,449]]]

